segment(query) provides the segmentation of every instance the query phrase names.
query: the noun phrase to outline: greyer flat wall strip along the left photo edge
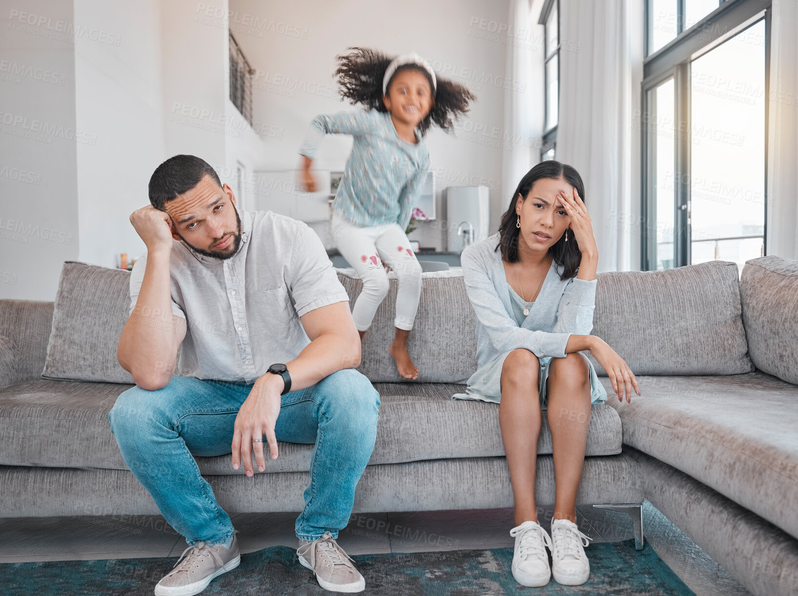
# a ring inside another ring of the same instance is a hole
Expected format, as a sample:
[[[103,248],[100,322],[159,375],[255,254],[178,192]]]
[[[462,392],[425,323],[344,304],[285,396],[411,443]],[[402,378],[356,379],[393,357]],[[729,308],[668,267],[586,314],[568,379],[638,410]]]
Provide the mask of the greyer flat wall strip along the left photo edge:
[[[73,22],[72,2],[0,0],[0,298],[52,300],[77,258]]]

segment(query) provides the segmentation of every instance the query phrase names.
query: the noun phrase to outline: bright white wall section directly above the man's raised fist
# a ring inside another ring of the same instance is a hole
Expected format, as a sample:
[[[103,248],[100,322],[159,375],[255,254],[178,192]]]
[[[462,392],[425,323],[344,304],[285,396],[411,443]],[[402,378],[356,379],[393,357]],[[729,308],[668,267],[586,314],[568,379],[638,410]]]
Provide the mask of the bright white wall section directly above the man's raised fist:
[[[120,253],[144,252],[128,216],[149,202],[164,159],[160,2],[75,0],[75,20],[119,40],[75,48],[77,127],[97,135],[77,147],[79,259],[113,267]]]

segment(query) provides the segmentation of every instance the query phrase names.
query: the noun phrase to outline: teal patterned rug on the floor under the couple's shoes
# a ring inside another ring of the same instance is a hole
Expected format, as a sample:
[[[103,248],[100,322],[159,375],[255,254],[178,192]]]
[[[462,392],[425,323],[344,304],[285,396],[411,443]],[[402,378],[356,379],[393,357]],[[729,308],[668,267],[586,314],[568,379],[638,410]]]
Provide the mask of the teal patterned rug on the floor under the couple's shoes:
[[[525,588],[512,578],[512,548],[354,557],[365,577],[365,592],[393,596],[502,596],[503,594],[685,594],[695,596],[654,550],[634,550],[634,540],[595,543],[587,548],[591,577],[582,586],[560,586],[552,578],[543,588]],[[171,559],[105,559],[0,565],[0,593],[152,594],[172,569]],[[271,547],[241,555],[241,565],[207,586],[204,594],[330,594],[297,562],[296,551]]]

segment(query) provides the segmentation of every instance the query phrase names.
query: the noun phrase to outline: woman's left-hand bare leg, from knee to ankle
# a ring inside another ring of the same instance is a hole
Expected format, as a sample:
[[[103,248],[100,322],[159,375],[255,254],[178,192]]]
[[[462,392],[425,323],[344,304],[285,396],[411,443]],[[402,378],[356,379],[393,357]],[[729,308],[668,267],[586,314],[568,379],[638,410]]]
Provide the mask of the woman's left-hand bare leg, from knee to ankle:
[[[516,526],[538,521],[535,464],[542,414],[538,395],[540,364],[528,349],[514,349],[501,372],[499,424],[516,503]]]

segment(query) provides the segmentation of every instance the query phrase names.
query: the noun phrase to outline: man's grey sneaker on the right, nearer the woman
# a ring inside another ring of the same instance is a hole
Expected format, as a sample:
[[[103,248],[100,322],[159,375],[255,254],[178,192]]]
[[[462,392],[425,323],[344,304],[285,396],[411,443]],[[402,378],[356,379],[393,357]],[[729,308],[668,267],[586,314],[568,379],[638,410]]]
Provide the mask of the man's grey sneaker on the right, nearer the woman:
[[[362,592],[365,579],[329,531],[312,542],[299,540],[299,562],[316,574],[318,585],[332,592]]]

